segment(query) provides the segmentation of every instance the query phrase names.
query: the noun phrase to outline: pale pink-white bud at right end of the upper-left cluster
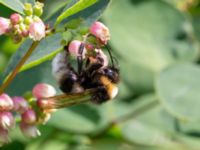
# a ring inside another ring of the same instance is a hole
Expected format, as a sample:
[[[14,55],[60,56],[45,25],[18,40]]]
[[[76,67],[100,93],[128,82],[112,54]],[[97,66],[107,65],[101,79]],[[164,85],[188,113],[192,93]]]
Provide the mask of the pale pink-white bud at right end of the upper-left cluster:
[[[29,26],[29,37],[34,41],[40,41],[45,37],[45,25],[42,20],[34,21]]]

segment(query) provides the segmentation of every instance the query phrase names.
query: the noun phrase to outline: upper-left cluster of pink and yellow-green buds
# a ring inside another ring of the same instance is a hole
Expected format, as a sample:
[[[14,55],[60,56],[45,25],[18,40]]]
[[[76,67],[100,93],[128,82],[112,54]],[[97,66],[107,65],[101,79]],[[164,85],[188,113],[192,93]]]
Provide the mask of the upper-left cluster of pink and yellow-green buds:
[[[45,37],[45,24],[40,19],[43,13],[43,3],[36,2],[24,4],[24,15],[11,14],[10,18],[0,17],[0,35],[6,34],[12,37],[15,43],[29,37],[34,41],[40,41]]]

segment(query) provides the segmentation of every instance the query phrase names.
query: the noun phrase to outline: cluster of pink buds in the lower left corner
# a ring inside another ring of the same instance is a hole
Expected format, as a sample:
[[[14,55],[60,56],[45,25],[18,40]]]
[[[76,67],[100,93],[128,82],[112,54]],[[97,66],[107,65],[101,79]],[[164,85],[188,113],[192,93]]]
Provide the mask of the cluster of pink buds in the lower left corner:
[[[0,143],[9,142],[9,131],[15,127],[16,119],[21,118],[19,122],[20,129],[26,137],[37,137],[40,131],[38,124],[44,124],[51,116],[52,110],[40,107],[42,99],[55,96],[56,90],[49,84],[37,84],[33,90],[32,100],[23,97],[10,97],[7,94],[0,95]]]

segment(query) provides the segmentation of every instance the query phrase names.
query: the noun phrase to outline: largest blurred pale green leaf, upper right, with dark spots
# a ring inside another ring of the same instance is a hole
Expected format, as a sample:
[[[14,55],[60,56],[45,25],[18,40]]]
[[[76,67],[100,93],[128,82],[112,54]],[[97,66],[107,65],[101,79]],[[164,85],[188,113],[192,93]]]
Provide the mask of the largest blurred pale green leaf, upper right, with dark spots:
[[[136,94],[153,91],[156,73],[168,65],[198,57],[188,18],[163,1],[113,1],[103,20],[122,79]]]

